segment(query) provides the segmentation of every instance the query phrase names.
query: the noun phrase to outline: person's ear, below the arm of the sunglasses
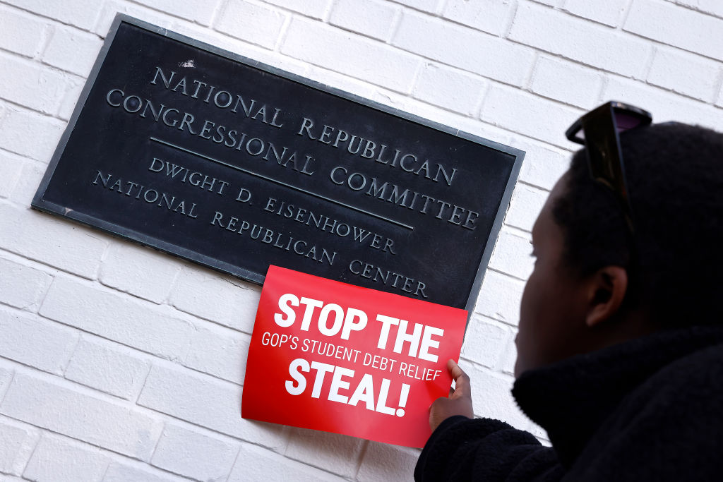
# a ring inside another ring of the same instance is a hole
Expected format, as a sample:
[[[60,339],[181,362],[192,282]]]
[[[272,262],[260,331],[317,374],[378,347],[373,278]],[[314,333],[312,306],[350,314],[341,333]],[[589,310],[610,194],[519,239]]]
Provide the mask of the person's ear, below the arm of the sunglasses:
[[[600,268],[592,277],[588,291],[585,323],[594,327],[612,317],[623,304],[628,291],[628,272],[620,266]]]

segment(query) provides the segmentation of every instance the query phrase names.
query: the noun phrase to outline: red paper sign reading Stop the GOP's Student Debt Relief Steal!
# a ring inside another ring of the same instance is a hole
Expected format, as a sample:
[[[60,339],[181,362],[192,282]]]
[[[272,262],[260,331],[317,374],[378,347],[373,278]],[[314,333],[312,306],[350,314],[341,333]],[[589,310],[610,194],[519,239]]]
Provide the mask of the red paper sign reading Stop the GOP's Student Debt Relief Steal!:
[[[467,312],[269,267],[241,416],[422,447]]]

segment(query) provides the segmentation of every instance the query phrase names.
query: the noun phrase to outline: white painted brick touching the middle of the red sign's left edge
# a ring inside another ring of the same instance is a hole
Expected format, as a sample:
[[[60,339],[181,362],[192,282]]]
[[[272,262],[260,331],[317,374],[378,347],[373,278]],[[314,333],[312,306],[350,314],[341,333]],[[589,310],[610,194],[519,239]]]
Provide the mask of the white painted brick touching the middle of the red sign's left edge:
[[[243,384],[251,337],[207,323],[191,338],[184,366]]]

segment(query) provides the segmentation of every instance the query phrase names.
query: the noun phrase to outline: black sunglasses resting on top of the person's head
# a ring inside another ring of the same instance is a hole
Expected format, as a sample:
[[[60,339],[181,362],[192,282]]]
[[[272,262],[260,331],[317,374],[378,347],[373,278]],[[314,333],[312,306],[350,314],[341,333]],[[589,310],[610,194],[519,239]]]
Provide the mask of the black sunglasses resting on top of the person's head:
[[[568,139],[586,147],[590,176],[609,189],[620,202],[631,236],[635,232],[634,216],[625,181],[620,132],[648,126],[652,121],[648,111],[620,102],[608,102],[586,113],[565,131]]]

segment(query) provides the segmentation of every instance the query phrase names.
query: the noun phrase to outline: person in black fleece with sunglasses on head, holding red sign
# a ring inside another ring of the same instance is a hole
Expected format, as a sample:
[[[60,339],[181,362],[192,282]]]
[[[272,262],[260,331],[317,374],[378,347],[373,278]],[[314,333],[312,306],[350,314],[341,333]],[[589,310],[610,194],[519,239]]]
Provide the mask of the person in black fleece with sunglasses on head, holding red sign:
[[[552,447],[473,419],[450,361],[417,482],[720,480],[723,134],[650,124],[620,103],[573,124],[532,230],[513,395]]]

